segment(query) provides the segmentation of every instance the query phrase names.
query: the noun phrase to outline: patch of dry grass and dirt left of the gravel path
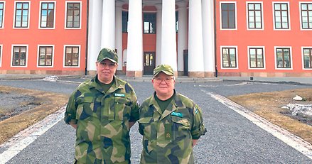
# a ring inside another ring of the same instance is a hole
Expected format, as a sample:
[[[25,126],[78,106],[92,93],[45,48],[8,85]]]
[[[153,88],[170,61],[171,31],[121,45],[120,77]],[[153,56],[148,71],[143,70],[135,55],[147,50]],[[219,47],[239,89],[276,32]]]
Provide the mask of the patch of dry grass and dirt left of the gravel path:
[[[0,144],[60,109],[68,95],[0,86]]]

